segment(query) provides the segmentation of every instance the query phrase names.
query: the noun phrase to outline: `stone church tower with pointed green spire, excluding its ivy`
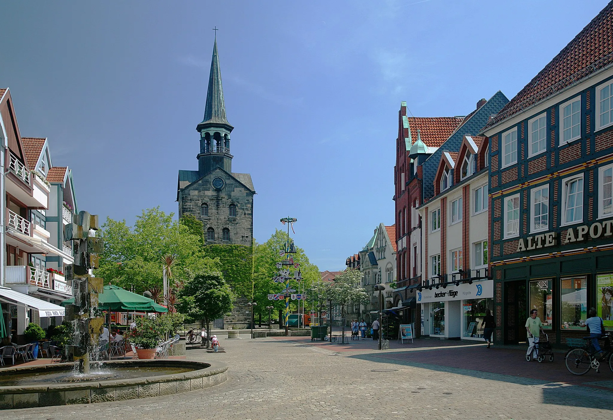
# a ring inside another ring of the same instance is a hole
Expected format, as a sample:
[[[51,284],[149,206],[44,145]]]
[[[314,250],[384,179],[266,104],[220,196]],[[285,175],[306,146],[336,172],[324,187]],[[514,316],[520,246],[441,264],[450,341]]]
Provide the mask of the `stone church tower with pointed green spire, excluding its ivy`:
[[[191,214],[202,221],[207,245],[251,246],[253,242],[253,196],[251,175],[232,172],[230,133],[221,85],[217,41],[213,46],[204,118],[196,127],[200,134],[198,170],[179,170],[177,201],[179,217]],[[248,299],[239,297],[223,319],[223,327],[249,326]],[[215,327],[220,327],[221,320]]]

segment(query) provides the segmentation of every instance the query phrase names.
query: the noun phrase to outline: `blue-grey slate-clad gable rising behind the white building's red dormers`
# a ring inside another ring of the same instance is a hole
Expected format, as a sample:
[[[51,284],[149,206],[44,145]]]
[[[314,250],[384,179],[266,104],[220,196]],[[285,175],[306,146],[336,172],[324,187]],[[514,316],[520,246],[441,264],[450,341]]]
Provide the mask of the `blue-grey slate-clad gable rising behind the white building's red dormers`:
[[[438,164],[441,161],[443,150],[460,150],[460,144],[465,134],[477,134],[485,127],[490,115],[496,114],[503,109],[504,105],[509,102],[506,96],[501,91],[495,93],[490,99],[485,102],[479,109],[471,112],[455,131],[449,136],[443,144],[440,145],[432,155],[422,164],[424,171],[424,183],[422,189],[422,203],[426,202],[434,196],[434,178]],[[422,139],[424,134],[422,133]]]

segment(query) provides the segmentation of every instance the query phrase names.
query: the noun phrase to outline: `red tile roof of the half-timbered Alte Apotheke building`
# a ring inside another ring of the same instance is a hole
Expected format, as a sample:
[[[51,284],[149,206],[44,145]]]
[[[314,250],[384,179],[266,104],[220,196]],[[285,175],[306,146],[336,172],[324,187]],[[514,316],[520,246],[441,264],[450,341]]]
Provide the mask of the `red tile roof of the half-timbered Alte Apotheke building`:
[[[504,105],[487,126],[509,118],[610,63],[613,63],[613,2]]]

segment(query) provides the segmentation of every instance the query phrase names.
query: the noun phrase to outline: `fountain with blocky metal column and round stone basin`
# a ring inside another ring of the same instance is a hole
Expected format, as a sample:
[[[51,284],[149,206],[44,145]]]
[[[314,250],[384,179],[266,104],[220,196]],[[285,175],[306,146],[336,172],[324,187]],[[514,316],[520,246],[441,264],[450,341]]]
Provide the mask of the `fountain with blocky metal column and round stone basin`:
[[[80,212],[65,227],[66,239],[78,248],[67,267],[74,304],[66,306],[72,340],[65,363],[0,368],[0,409],[47,407],[91,402],[122,401],[170,395],[221,384],[227,365],[185,360],[99,361],[99,335],[104,318],[98,294],[104,280],[93,276],[102,253],[102,239],[89,236],[99,229],[98,216]]]

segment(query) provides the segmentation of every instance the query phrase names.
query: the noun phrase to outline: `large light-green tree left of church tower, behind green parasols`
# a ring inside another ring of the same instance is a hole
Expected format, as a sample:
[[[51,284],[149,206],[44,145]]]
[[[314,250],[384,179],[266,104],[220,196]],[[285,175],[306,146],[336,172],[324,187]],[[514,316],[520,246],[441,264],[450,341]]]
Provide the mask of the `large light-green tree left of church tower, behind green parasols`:
[[[142,293],[162,288],[163,261],[168,255],[176,257],[172,265],[175,286],[204,269],[218,269],[219,261],[205,256],[200,237],[193,231],[193,226],[173,220],[173,213],[167,215],[159,207],[143,210],[134,226],[107,218],[100,233],[104,253],[96,275],[105,283]]]

